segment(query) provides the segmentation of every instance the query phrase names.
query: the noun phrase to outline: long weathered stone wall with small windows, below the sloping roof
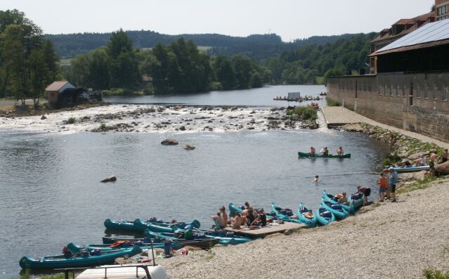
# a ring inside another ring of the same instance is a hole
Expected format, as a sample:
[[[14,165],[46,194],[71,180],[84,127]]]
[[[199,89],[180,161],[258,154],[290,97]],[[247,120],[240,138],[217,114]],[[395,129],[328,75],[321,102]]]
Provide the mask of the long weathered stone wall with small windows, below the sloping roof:
[[[449,73],[327,79],[327,97],[377,122],[449,142]]]

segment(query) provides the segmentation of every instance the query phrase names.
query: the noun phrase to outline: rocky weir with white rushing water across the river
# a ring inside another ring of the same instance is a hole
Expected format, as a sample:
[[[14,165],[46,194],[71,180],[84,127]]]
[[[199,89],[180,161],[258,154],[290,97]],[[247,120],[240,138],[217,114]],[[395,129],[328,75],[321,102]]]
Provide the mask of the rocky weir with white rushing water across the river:
[[[240,131],[315,128],[291,121],[285,108],[108,105],[42,116],[0,117],[4,129],[48,132]]]

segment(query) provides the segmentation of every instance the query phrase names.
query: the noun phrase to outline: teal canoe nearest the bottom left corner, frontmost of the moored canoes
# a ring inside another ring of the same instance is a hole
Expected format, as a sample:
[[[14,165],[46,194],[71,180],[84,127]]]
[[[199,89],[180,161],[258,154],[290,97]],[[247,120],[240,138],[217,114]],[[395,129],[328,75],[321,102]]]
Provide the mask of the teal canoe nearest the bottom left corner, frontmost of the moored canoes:
[[[19,265],[24,269],[49,270],[55,268],[82,268],[114,264],[115,259],[128,255],[132,257],[142,252],[141,247],[135,246],[129,249],[117,249],[102,252],[99,256],[71,257],[66,259],[63,254],[58,256],[46,256],[41,259],[22,257]]]

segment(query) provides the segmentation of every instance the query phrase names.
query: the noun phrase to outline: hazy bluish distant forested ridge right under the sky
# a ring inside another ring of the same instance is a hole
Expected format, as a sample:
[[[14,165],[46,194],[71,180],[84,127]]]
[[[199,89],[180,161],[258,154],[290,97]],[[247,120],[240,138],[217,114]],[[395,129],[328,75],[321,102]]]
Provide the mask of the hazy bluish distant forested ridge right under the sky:
[[[297,39],[292,43],[284,43],[276,34],[253,34],[247,37],[233,37],[222,34],[179,34],[168,35],[153,31],[126,31],[134,48],[152,48],[157,42],[169,44],[183,37],[192,40],[198,46],[211,46],[211,54],[233,56],[242,53],[250,58],[261,60],[276,56],[282,51],[290,51],[299,46],[311,44],[327,44],[338,39],[347,39],[353,34],[338,36],[315,36],[307,39]],[[89,53],[93,49],[108,44],[111,33],[77,33],[77,34],[47,34],[61,58],[73,58],[78,54]]]

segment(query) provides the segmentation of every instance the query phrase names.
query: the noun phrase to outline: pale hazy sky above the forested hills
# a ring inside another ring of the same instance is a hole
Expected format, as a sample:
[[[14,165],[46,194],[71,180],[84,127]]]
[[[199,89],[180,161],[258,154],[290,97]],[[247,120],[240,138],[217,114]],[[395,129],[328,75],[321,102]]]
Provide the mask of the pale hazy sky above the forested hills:
[[[431,0],[0,0],[46,34],[152,30],[162,34],[275,33],[282,41],[379,32],[430,11]]]

